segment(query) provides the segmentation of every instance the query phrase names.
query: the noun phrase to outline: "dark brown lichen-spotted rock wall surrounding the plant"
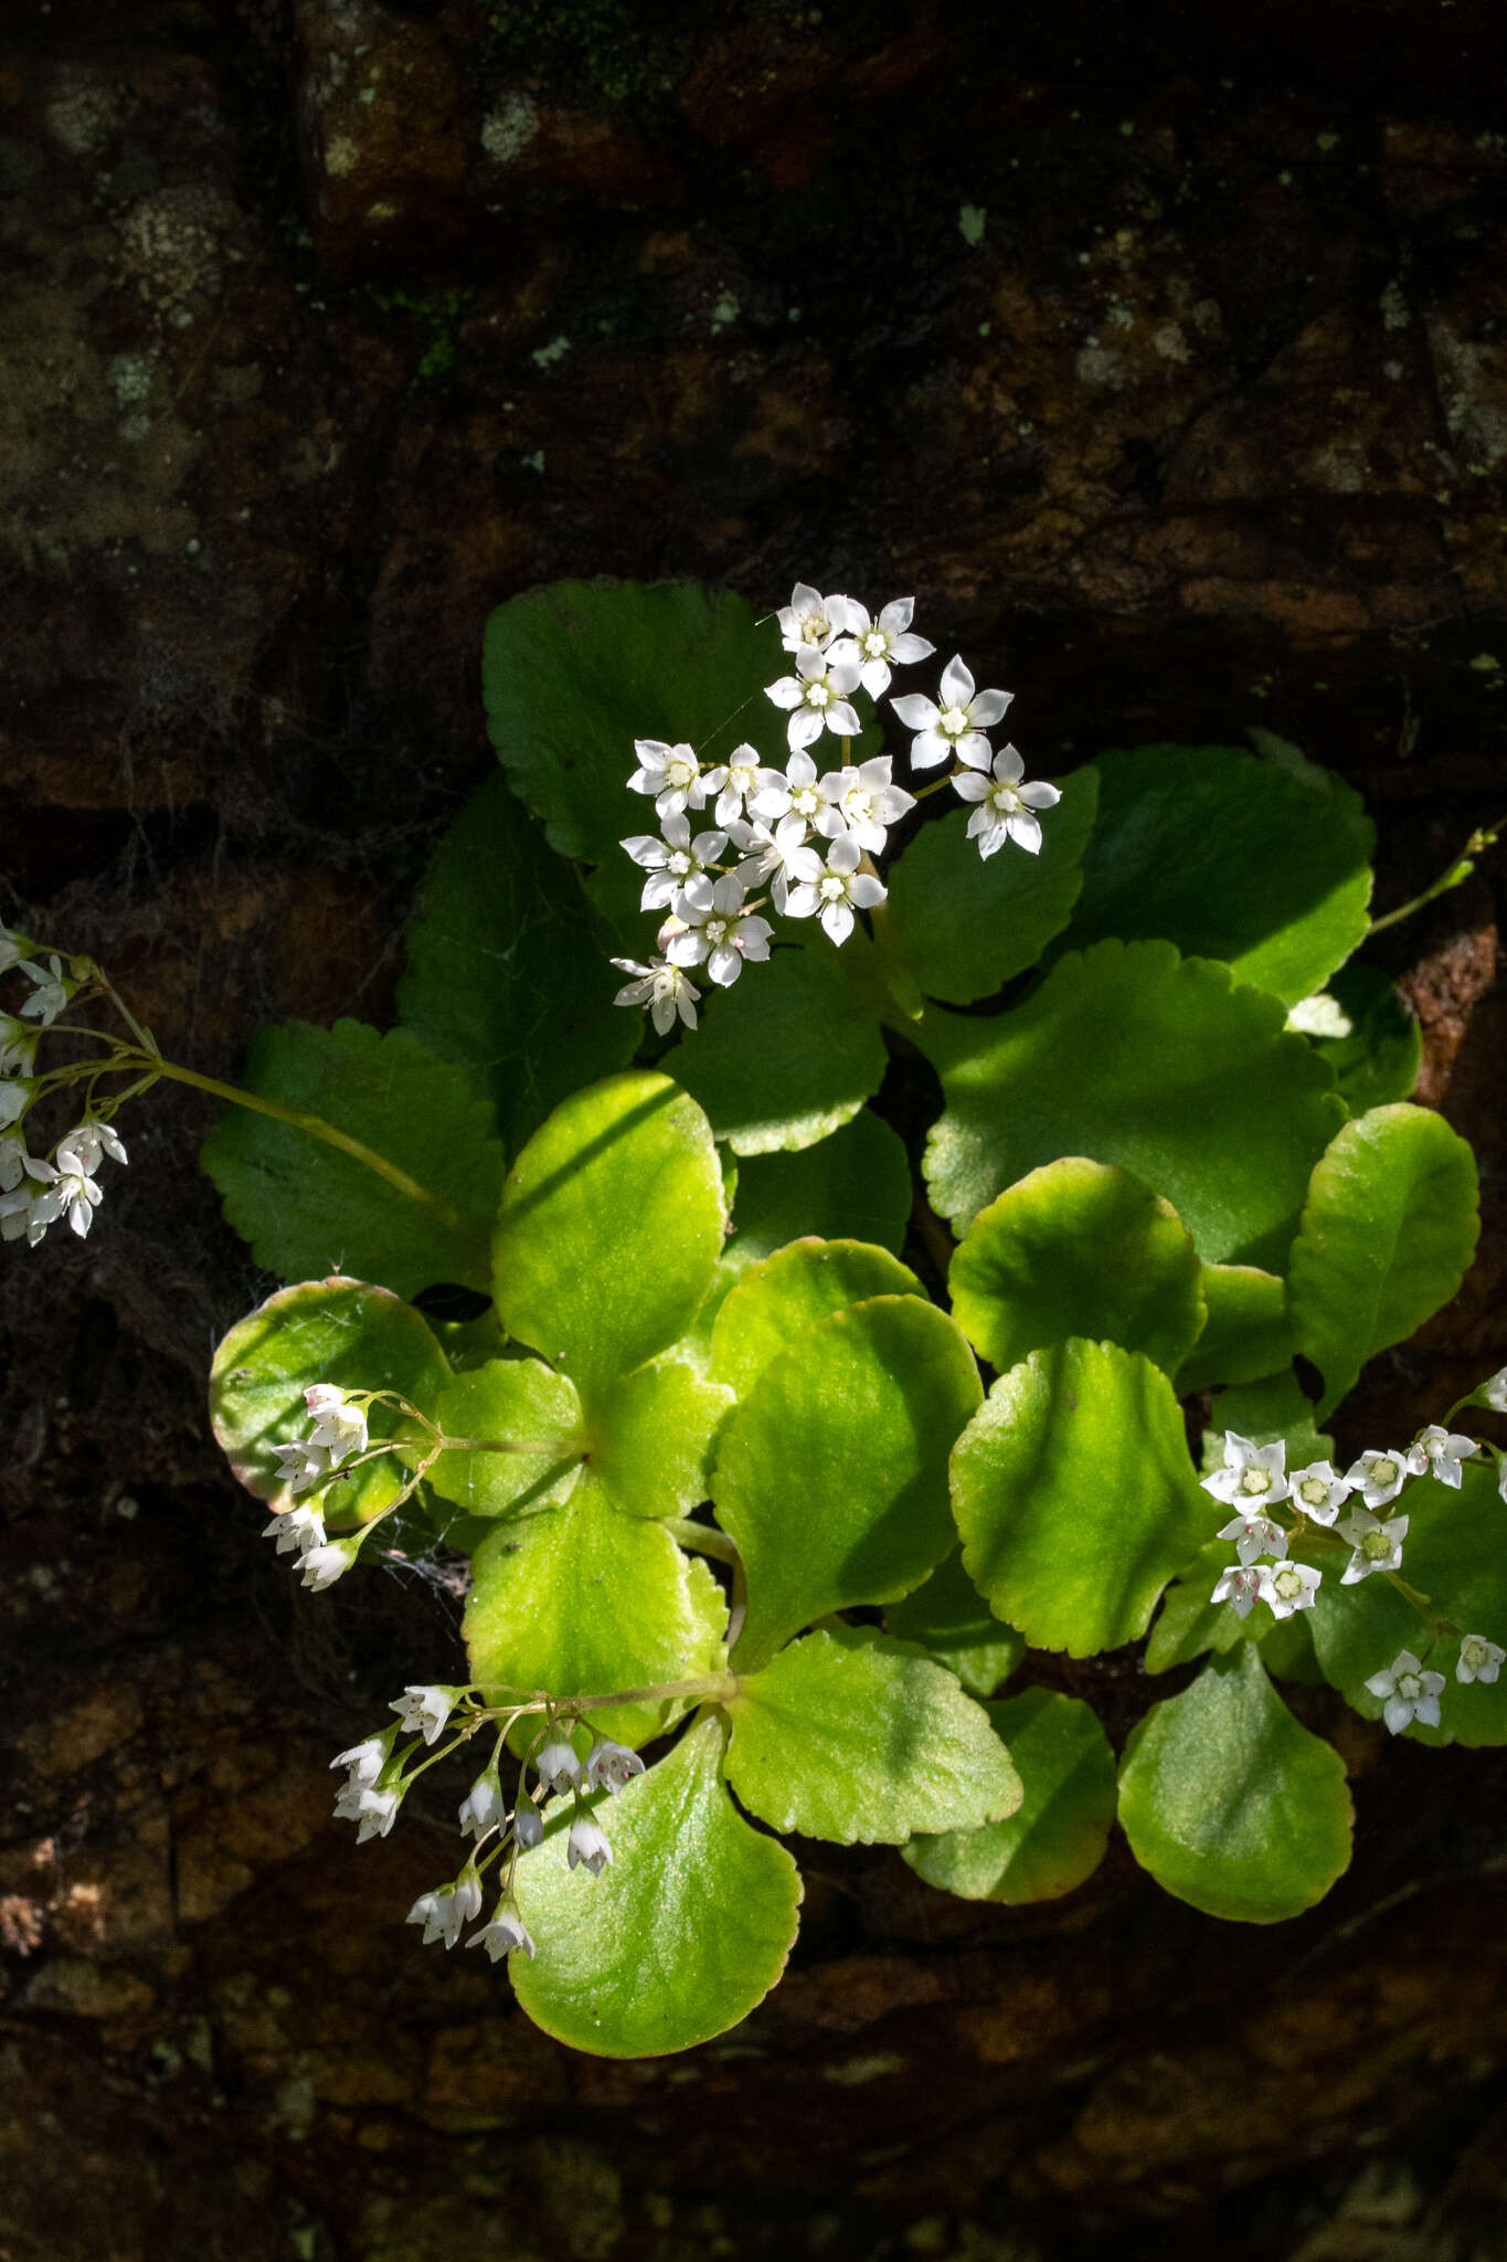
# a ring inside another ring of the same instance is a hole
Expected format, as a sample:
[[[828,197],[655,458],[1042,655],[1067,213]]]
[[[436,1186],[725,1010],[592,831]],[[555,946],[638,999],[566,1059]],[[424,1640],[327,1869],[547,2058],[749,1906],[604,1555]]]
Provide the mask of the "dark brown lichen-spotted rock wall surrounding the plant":
[[[0,918],[212,1072],[382,1020],[486,613],[590,572],[915,590],[1033,776],[1274,728],[1401,903],[1507,810],[1505,63],[1478,0],[11,0]],[[1507,1357],[1498,884],[1371,952],[1487,1224],[1347,1450]],[[357,1855],[325,1762],[454,1581],[260,1545],[206,1124],[0,1271],[0,2262],[1507,2251],[1500,1771],[1326,1692],[1356,1866],[1274,1932],[1123,1848],[1019,1914],[811,1848],[784,1986],[639,2065],[420,1954],[447,1798]]]

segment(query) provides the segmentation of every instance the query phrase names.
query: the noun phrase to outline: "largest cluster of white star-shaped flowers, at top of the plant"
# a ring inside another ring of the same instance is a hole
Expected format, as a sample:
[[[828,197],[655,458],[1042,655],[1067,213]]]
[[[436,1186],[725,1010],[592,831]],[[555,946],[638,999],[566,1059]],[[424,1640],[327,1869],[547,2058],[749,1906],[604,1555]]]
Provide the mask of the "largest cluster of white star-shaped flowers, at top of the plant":
[[[822,597],[798,581],[779,608],[784,649],[793,670],[766,685],[766,697],[786,715],[786,765],[764,767],[750,744],[709,769],[689,744],[635,740],[639,767],[628,778],[635,794],[653,796],[660,832],[637,832],[624,848],[646,871],[639,909],[664,912],[655,959],[612,959],[633,975],[617,1004],[648,1007],[655,1029],[667,1036],[676,1016],[696,1027],[700,1000],[691,975],[705,968],[716,988],[739,979],[746,964],[768,959],[773,925],[761,918],[768,903],[782,918],[816,918],[834,943],[845,943],[859,912],[886,900],[874,869],[890,826],[915,808],[892,778],[892,756],[850,760],[863,733],[854,703],[870,703],[890,690],[895,667],[913,667],[935,645],[911,629],[913,597],[897,597],[874,620],[854,597]],[[1003,719],[1010,692],[976,690],[960,658],[942,670],[940,703],[908,692],[890,699],[899,722],[913,733],[911,767],[956,767],[938,783],[951,783],[974,805],[967,832],[983,857],[1008,839],[1033,855],[1042,846],[1037,810],[1060,798],[1055,785],[1026,785],[1014,746],[994,753],[987,731]],[[813,753],[840,740],[840,760],[820,769]],[[931,792],[933,787],[924,787]],[[691,812],[712,810],[714,823],[691,832]],[[766,889],[768,893],[755,893]]]

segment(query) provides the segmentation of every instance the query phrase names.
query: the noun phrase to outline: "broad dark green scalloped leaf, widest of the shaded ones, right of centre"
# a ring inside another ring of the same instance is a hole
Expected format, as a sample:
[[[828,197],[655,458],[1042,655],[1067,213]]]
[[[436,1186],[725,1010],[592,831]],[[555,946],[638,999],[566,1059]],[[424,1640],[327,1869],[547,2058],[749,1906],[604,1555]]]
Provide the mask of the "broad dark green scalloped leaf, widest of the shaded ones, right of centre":
[[[1281,1262],[1342,1120],[1277,1000],[1170,943],[1098,943],[1012,1013],[933,1009],[915,1041],[947,1095],[926,1179],[956,1231],[1028,1169],[1080,1154],[1164,1194],[1207,1264]]]

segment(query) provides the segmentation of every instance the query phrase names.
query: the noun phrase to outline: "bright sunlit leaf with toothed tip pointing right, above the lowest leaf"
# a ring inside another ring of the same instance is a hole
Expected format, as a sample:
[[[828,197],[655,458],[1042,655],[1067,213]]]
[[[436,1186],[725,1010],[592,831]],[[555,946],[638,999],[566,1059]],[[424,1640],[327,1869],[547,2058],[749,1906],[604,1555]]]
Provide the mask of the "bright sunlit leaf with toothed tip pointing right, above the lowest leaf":
[[[807,1633],[728,1701],[728,1782],[775,1830],[904,1846],[976,1830],[1021,1803],[983,1706],[944,1667],[865,1626]]]

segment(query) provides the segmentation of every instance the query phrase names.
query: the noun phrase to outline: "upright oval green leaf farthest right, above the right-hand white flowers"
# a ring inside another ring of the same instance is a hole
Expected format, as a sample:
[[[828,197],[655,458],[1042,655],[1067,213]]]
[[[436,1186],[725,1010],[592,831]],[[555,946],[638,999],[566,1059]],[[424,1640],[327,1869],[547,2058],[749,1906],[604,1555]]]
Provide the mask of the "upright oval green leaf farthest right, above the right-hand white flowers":
[[[1448,1303],[1475,1255],[1475,1156],[1405,1102],[1344,1124],[1313,1172],[1288,1267],[1297,1348],[1329,1414],[1387,1344]]]

